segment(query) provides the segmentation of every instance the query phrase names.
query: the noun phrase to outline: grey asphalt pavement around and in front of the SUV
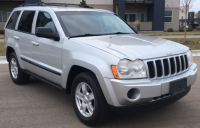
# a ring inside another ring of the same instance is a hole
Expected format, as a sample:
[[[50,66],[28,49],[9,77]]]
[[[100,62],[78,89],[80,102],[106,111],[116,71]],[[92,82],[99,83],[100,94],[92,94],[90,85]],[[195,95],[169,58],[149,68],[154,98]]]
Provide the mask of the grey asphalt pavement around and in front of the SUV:
[[[200,65],[200,57],[194,57]],[[154,111],[116,116],[107,128],[200,128],[200,70],[195,85],[181,100]],[[8,65],[0,65],[0,128],[87,128],[76,117],[70,95],[31,78],[15,85]]]

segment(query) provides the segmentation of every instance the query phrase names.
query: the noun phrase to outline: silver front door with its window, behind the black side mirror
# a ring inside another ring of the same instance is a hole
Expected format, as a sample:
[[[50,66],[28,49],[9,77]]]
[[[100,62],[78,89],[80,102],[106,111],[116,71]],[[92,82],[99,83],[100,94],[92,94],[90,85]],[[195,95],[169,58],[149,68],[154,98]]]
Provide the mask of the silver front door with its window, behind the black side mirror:
[[[51,28],[59,34],[55,22],[49,12],[38,11],[35,21],[37,27]],[[33,72],[44,79],[61,85],[62,74],[62,45],[63,40],[55,41],[53,39],[32,36],[32,55],[34,59]]]

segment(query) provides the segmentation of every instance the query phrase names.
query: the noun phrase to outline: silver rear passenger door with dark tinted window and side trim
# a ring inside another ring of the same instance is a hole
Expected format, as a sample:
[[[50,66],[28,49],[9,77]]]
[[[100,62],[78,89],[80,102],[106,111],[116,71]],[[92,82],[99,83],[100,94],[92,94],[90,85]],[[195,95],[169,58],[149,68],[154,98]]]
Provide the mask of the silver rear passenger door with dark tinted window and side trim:
[[[14,35],[15,39],[18,40],[22,64],[29,71],[32,71],[32,65],[30,63],[33,58],[31,37],[35,13],[35,11],[23,11],[18,23],[17,32]]]

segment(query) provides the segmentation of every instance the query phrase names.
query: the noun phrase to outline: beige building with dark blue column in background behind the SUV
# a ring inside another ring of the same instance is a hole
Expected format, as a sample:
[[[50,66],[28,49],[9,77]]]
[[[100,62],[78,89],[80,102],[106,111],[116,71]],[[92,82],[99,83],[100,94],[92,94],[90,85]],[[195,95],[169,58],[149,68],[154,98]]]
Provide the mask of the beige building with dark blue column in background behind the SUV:
[[[20,4],[37,3],[40,0],[0,0],[0,29],[14,7]],[[80,4],[81,0],[41,0],[44,3]],[[141,31],[179,30],[180,0],[86,0],[87,4],[97,9],[106,9],[118,14],[133,25],[140,21]],[[12,5],[12,6],[11,6]],[[2,6],[2,8],[1,8]],[[2,11],[4,8],[4,11]],[[2,15],[1,16],[1,12]],[[1,17],[3,19],[1,20]]]

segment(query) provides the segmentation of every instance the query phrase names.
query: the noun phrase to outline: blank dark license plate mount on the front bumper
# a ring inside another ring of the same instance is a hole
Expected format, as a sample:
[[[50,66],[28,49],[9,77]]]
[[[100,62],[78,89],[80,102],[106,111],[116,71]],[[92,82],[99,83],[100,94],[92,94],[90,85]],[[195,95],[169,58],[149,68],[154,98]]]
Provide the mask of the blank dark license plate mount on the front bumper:
[[[170,83],[170,94],[176,95],[187,89],[187,78],[176,80]]]

